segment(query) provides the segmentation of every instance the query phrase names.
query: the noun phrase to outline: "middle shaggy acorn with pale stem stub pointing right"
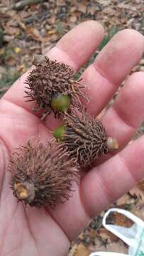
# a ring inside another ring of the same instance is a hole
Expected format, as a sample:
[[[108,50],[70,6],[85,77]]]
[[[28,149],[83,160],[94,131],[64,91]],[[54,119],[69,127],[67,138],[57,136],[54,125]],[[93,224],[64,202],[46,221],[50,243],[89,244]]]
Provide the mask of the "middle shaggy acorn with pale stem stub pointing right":
[[[87,167],[108,151],[118,149],[117,139],[107,137],[106,129],[99,119],[82,112],[65,114],[63,127],[53,131],[54,137],[77,159],[81,167]]]

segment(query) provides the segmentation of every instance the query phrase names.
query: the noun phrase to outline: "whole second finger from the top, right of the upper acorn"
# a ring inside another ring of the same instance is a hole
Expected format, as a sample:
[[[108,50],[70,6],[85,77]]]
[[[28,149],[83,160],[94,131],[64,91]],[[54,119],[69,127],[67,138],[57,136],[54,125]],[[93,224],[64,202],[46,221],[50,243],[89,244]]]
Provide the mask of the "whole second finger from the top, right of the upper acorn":
[[[87,93],[92,98],[87,105],[89,113],[96,116],[101,112],[138,63],[143,50],[144,38],[137,31],[126,29],[113,36],[82,75],[82,82],[89,87]]]

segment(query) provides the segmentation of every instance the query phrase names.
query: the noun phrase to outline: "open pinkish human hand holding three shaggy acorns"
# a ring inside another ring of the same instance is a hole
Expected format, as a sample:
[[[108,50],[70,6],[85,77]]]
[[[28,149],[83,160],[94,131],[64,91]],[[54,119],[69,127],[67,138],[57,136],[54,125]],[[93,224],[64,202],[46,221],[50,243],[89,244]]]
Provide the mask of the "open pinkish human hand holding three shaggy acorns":
[[[104,31],[96,21],[81,23],[67,33],[47,54],[78,70],[102,41]],[[94,63],[84,71],[82,83],[92,97],[89,113],[97,116],[113,97],[118,86],[140,60],[144,38],[137,31],[123,30],[101,50]],[[19,78],[0,102],[0,255],[67,255],[70,241],[79,235],[90,218],[135,186],[144,176],[144,137],[126,146],[144,119],[144,73],[134,73],[125,82],[102,122],[121,151],[95,166],[74,184],[70,201],[51,208],[25,208],[17,203],[9,188],[6,164],[13,148],[28,139],[45,142],[57,120],[50,115],[41,122],[33,113],[33,102],[25,102],[25,80]]]

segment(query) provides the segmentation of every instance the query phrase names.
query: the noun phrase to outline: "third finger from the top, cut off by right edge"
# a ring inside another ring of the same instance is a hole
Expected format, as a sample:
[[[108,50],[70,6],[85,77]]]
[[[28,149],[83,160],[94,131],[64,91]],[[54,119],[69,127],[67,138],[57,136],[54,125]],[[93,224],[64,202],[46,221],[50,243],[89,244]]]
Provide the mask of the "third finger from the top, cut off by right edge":
[[[144,119],[144,73],[134,73],[119,92],[102,122],[110,137],[116,137],[120,148],[125,146]]]

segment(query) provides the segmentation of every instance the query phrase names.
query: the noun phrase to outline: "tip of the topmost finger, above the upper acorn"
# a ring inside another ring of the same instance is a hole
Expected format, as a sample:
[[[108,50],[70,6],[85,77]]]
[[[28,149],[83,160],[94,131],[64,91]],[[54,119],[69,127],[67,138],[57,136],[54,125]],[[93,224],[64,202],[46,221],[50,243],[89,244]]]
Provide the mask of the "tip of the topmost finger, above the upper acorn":
[[[63,36],[48,56],[59,61],[67,61],[74,70],[78,70],[91,57],[104,37],[104,28],[96,21],[85,21]],[[56,52],[57,51],[57,52]],[[61,55],[60,55],[61,51]]]

